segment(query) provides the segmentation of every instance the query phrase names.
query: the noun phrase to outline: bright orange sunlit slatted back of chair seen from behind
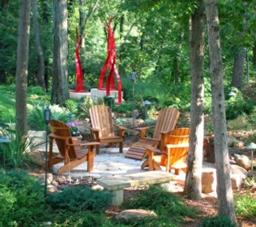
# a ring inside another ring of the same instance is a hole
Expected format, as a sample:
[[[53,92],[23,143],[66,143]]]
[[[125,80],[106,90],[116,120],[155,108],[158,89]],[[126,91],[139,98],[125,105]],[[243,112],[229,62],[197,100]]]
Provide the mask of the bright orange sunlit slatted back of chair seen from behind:
[[[177,128],[166,137],[166,144],[188,144],[189,143],[189,128]],[[166,147],[163,152],[166,152]],[[188,147],[170,149],[169,163],[170,166],[185,163],[188,154]],[[160,165],[166,166],[167,155],[162,155]]]

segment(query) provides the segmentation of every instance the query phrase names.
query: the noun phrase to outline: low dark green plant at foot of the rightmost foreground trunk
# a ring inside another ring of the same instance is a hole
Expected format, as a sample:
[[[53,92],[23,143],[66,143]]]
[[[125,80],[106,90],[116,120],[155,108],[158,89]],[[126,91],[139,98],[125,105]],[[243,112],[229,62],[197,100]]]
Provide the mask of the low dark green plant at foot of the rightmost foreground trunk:
[[[206,217],[201,221],[201,227],[236,227],[226,216]]]

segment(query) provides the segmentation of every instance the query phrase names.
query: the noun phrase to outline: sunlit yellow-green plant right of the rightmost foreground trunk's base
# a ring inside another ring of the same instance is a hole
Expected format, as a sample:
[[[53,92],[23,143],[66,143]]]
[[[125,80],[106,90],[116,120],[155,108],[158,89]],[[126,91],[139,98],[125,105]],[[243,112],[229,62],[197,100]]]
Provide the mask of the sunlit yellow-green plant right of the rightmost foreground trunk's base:
[[[255,179],[254,179],[255,184]],[[256,216],[256,199],[249,193],[246,195],[236,194],[234,196],[234,207],[236,214],[242,217]]]

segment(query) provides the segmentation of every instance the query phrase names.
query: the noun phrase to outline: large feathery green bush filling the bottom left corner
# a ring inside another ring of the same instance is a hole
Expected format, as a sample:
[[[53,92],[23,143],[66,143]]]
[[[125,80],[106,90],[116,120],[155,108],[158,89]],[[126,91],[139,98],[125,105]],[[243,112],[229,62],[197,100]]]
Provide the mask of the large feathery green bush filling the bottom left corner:
[[[49,216],[44,187],[25,171],[2,171],[0,194],[1,226],[35,226]]]

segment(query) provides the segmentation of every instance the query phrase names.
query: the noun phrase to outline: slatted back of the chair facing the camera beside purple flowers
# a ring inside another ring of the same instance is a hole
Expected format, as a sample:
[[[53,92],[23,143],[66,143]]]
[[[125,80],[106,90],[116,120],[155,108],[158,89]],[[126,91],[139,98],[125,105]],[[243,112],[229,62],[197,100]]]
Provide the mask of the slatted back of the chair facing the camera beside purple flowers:
[[[99,137],[114,137],[112,111],[109,106],[95,105],[89,109],[91,127],[99,129]]]

